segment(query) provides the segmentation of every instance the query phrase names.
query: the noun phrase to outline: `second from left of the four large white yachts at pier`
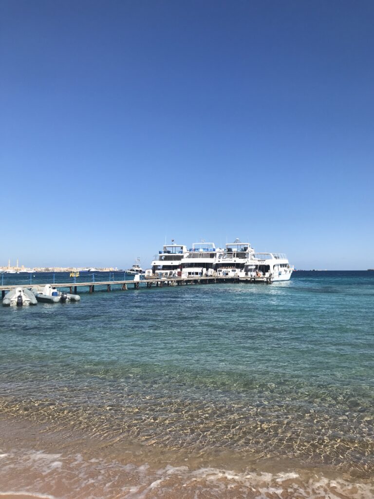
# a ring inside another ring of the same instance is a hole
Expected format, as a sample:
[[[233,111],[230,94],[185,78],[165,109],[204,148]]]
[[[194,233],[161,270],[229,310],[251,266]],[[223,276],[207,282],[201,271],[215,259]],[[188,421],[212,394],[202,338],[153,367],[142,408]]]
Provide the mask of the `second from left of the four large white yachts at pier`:
[[[213,275],[213,267],[223,250],[216,248],[214,243],[193,243],[182,258],[182,277]]]

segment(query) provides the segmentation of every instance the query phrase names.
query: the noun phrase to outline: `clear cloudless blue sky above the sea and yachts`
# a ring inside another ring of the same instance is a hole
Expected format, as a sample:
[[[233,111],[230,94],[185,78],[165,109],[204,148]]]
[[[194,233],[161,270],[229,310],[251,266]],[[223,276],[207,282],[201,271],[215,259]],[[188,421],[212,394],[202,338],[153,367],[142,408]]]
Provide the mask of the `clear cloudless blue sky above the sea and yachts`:
[[[374,266],[373,1],[0,3],[0,264]]]

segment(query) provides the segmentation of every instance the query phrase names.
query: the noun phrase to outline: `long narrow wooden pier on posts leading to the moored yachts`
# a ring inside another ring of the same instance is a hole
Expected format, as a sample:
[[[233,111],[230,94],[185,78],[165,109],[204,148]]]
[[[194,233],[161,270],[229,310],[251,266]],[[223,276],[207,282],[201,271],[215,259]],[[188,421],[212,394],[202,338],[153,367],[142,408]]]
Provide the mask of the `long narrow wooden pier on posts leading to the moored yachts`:
[[[150,279],[141,279],[141,280],[111,280],[111,281],[89,281],[89,282],[63,282],[63,283],[51,283],[51,286],[55,288],[69,288],[70,293],[77,294],[78,288],[88,287],[89,293],[93,293],[95,289],[104,286],[104,290],[106,287],[106,291],[112,291],[113,286],[119,286],[116,288],[117,290],[125,291],[129,289],[129,287],[134,287],[134,289],[140,288],[151,288],[151,287],[164,287],[164,286],[185,286],[189,284],[216,284],[219,282],[231,282],[231,283],[251,283],[251,282],[265,282],[266,284],[270,284],[272,279],[270,277],[227,277],[227,276],[203,276],[203,277],[163,277],[163,278],[150,278]],[[15,287],[24,287],[26,289],[31,289],[33,287],[43,287],[46,283],[43,284],[10,284],[0,286],[1,297],[3,298],[6,291],[10,291],[10,289],[14,289]]]

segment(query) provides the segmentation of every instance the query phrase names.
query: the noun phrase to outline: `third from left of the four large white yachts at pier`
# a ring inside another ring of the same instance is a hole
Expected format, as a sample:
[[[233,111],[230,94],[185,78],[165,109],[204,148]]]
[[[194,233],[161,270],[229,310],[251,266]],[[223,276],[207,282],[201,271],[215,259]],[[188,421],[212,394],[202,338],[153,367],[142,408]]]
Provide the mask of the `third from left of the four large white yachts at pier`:
[[[226,249],[218,255],[214,270],[218,276],[244,277],[245,266],[254,253],[249,243],[242,243],[235,239],[233,243],[226,244]]]

